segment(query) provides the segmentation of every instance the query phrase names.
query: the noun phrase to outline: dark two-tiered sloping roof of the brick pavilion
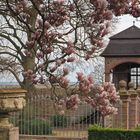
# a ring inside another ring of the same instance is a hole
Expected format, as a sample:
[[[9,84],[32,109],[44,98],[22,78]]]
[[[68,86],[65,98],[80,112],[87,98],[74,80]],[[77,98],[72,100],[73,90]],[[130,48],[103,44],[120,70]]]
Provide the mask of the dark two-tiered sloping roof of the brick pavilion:
[[[112,36],[107,47],[104,49],[100,56],[140,56],[140,28],[133,25]]]

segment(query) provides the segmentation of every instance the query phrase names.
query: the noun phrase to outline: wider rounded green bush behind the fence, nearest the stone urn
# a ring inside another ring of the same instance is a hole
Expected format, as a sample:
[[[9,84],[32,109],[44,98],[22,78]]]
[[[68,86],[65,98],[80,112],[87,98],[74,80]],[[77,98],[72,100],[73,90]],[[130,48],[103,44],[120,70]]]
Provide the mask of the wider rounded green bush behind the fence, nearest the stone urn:
[[[28,135],[47,135],[52,134],[52,128],[50,123],[45,120],[22,120],[19,122],[19,133]]]

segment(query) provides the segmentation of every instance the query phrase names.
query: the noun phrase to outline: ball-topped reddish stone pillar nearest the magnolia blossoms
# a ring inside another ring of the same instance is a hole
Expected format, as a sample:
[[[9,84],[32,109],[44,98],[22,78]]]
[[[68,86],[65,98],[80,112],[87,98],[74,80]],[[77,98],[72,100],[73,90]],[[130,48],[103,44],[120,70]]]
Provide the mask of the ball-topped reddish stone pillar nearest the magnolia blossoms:
[[[124,80],[121,80],[119,82],[119,94],[120,99],[122,101],[122,114],[121,114],[121,127],[129,129],[129,102],[130,97],[126,90],[126,82]]]

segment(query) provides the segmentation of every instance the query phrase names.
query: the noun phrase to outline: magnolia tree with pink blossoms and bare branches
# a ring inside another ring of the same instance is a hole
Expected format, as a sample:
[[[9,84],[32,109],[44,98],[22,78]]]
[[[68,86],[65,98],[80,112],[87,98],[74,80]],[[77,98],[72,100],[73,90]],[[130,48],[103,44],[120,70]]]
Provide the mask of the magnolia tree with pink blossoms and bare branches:
[[[88,60],[104,47],[113,15],[140,15],[137,0],[2,0],[0,1],[0,70],[10,71],[21,87],[36,83],[68,89],[69,69],[76,58]],[[5,63],[2,63],[5,62]],[[14,65],[14,67],[13,67]],[[21,78],[21,76],[23,78]],[[21,80],[22,79],[22,80]],[[98,106],[103,114],[114,112],[115,89],[107,84],[89,97],[93,78],[77,73],[71,94],[55,103],[59,110],[77,108],[80,98]],[[79,93],[79,94],[76,94]]]

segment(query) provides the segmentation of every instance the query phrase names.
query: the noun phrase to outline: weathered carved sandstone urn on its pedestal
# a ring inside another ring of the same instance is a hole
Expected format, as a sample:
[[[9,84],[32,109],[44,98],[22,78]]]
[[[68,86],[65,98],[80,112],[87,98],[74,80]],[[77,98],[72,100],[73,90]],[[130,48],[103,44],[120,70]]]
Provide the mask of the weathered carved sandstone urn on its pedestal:
[[[25,106],[25,93],[22,89],[0,89],[0,140],[19,140],[19,130],[9,122],[9,117]]]

